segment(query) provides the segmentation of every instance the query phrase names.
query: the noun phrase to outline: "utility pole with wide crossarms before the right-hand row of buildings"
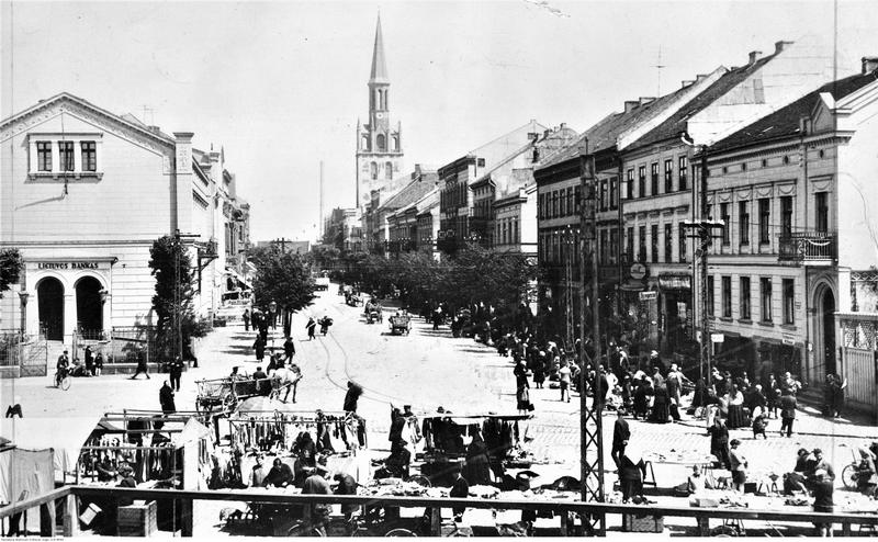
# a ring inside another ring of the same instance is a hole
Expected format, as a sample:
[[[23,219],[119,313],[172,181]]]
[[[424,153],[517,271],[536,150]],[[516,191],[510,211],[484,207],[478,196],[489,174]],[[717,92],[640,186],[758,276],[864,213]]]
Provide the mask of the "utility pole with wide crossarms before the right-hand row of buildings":
[[[725,223],[723,221],[713,221],[708,214],[707,211],[707,178],[708,178],[708,168],[707,168],[707,155],[708,155],[708,147],[702,145],[700,151],[700,182],[699,182],[699,197],[698,197],[698,205],[700,207],[700,216],[701,218],[698,221],[686,221],[683,223],[683,227],[690,232],[688,237],[694,237],[699,240],[699,251],[700,251],[700,259],[701,259],[701,276],[699,281],[699,295],[700,305],[701,305],[701,341],[699,343],[699,375],[702,379],[706,379],[707,385],[710,386],[713,382],[713,341],[710,337],[710,315],[708,314],[710,308],[709,296],[713,294],[713,292],[709,291],[708,287],[708,252],[710,251],[710,247],[713,245],[713,238],[718,237],[713,234],[714,230],[719,230],[720,235],[722,235],[722,230],[725,227]]]

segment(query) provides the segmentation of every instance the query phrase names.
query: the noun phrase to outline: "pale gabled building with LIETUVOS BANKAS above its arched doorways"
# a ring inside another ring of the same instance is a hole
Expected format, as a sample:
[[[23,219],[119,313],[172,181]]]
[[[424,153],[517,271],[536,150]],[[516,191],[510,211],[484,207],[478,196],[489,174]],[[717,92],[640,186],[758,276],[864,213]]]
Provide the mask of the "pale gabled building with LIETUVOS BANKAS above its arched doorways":
[[[0,122],[0,248],[23,260],[0,332],[42,345],[49,363],[89,341],[112,349],[114,334],[155,323],[149,249],[177,232],[200,315],[248,287],[249,204],[224,150],[192,138],[69,93]]]

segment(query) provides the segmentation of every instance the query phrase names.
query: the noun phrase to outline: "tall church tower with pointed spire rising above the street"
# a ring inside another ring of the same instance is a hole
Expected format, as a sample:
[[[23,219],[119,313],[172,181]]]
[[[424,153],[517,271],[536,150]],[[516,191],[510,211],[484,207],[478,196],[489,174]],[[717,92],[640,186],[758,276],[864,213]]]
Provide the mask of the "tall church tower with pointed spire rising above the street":
[[[369,76],[369,122],[357,121],[357,206],[370,201],[370,192],[387,184],[403,170],[402,127],[391,124],[391,81],[384,60],[381,14],[375,26],[372,71]]]

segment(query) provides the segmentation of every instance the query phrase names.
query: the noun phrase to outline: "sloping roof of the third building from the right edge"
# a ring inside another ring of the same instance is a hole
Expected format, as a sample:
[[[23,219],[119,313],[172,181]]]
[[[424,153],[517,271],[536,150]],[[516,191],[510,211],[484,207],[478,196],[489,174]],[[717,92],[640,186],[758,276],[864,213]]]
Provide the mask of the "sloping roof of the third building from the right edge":
[[[578,157],[579,147],[584,146],[586,140],[588,142],[588,151],[592,154],[611,148],[616,145],[617,138],[626,129],[653,118],[655,115],[660,114],[665,106],[677,100],[680,94],[687,92],[687,90],[688,88],[677,89],[669,94],[638,105],[627,113],[610,113],[585,131],[573,144],[555,154],[550,160],[547,160],[545,163],[540,166],[540,169],[549,168]]]

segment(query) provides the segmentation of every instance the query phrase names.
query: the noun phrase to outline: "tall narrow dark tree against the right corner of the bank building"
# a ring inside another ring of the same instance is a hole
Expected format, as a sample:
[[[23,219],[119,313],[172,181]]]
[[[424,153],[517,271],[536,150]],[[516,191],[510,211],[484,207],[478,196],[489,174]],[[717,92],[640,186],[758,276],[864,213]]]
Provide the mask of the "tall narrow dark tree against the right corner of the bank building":
[[[195,293],[192,259],[179,239],[171,235],[156,239],[149,249],[149,268],[156,278],[156,293],[153,295],[153,310],[157,318],[155,339],[161,353],[170,357],[177,352],[175,314],[180,317],[180,340],[184,348],[191,337],[204,337],[210,323],[199,318],[192,308]]]

